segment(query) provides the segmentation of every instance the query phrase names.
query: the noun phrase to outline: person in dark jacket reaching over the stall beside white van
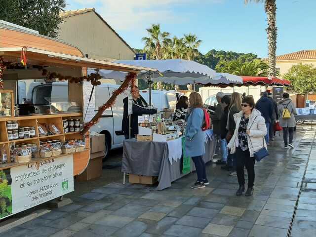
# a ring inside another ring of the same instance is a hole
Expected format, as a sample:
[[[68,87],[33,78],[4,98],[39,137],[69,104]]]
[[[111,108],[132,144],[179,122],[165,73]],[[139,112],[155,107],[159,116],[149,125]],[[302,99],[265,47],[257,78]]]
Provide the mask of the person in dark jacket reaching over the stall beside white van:
[[[135,137],[135,134],[138,134],[138,116],[142,115],[154,115],[157,114],[157,109],[153,109],[148,107],[146,101],[140,96],[138,87],[135,87],[133,92],[133,113],[130,115],[131,117],[131,138]],[[122,119],[122,131],[124,132],[125,138],[129,138],[129,118],[128,118],[128,97],[123,99],[124,103],[124,111],[123,111],[123,119]]]

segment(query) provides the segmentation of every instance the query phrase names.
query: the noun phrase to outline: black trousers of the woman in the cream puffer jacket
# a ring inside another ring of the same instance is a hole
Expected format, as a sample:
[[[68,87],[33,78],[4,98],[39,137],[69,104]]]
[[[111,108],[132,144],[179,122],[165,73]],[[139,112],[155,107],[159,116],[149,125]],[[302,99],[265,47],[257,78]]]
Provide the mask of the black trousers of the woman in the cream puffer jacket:
[[[246,166],[248,173],[248,188],[252,188],[255,181],[255,158],[250,157],[249,149],[242,151],[236,148],[236,171],[239,185],[245,184],[245,174],[243,167]]]

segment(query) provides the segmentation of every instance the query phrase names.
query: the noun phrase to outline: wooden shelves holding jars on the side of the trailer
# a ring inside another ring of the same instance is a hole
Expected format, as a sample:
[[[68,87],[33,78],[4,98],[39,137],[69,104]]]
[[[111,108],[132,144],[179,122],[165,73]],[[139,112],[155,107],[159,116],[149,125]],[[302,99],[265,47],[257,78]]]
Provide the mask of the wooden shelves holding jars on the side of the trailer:
[[[62,142],[65,142],[66,138],[67,139],[82,139],[82,135],[80,135],[80,132],[69,132],[69,133],[64,133],[64,126],[63,126],[63,119],[73,119],[73,118],[78,118],[81,117],[82,113],[74,113],[74,114],[53,114],[53,115],[39,115],[39,116],[21,116],[21,117],[2,117],[0,118],[0,147],[4,146],[7,154],[7,163],[6,164],[0,164],[0,169],[10,167],[10,144],[15,143],[15,144],[20,144],[20,143],[29,143],[33,142],[36,143],[38,148],[40,147],[40,141],[45,140],[45,139],[54,139],[54,138],[59,138]],[[80,119],[81,120],[81,119]],[[31,137],[31,138],[24,138],[24,139],[16,139],[16,140],[8,140],[8,133],[7,133],[7,127],[6,127],[6,122],[7,121],[17,121],[20,126],[34,126],[35,127],[35,132],[36,136]],[[48,136],[39,136],[39,130],[38,130],[38,124],[43,124],[43,123],[53,123],[56,125],[58,130],[61,131],[60,134],[53,134],[53,135],[48,135]],[[87,151],[84,150],[84,151]],[[83,151],[83,152],[84,152]],[[82,152],[80,152],[82,153]],[[39,158],[42,159],[42,158]],[[31,162],[34,162],[33,159]],[[13,163],[14,165],[18,163]],[[25,164],[25,163],[19,163],[20,164]]]

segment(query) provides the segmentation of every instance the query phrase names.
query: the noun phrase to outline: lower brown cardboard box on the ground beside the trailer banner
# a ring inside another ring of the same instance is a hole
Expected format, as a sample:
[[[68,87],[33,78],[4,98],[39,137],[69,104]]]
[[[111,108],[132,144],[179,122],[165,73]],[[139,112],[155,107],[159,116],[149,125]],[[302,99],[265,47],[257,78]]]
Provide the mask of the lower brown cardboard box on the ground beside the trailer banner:
[[[104,152],[94,153],[95,156],[92,158],[92,154],[89,160],[89,164],[87,168],[84,170],[82,174],[77,176],[78,181],[87,181],[90,179],[99,178],[102,176],[102,159],[104,157]]]

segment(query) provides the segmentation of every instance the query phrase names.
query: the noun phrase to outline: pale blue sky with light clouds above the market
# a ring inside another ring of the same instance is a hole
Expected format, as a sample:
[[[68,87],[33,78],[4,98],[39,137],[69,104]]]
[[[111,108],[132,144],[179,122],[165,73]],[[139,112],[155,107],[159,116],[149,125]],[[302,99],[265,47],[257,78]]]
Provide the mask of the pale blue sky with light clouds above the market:
[[[216,50],[267,57],[266,14],[263,3],[243,0],[66,0],[67,9],[96,11],[134,48],[152,23],[171,36],[196,34],[203,54]],[[316,49],[316,0],[276,0],[276,54]]]

